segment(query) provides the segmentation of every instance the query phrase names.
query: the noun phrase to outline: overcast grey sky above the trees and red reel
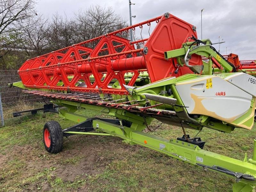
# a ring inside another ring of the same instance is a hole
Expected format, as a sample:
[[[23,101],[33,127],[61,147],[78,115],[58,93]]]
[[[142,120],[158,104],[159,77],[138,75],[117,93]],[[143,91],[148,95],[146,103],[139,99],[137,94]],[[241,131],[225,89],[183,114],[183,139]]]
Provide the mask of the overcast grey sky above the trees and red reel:
[[[223,39],[220,53],[227,52],[239,55],[240,60],[256,59],[256,0],[131,0],[132,23],[170,12],[197,27],[197,35],[201,38],[201,9],[203,12],[203,39],[210,38],[212,43]],[[78,10],[86,10],[89,6],[99,4],[112,7],[115,13],[129,21],[129,0],[38,0],[37,13],[51,19],[58,12],[72,18]],[[215,45],[219,49],[219,45]]]

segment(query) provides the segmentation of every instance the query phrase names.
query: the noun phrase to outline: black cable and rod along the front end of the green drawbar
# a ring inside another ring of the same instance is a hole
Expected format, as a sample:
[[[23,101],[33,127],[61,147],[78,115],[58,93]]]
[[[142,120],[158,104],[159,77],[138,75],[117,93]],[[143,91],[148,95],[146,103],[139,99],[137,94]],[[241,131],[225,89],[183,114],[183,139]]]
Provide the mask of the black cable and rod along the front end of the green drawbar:
[[[250,174],[243,174],[243,173],[238,173],[238,172],[232,172],[232,171],[230,171],[230,170],[228,170],[226,168],[219,167],[219,166],[216,166],[216,165],[213,165],[211,167],[211,166],[200,164],[200,163],[196,163],[196,164],[198,166],[203,167],[205,170],[212,169],[214,171],[218,171],[218,172],[222,172],[222,173],[226,173],[228,175],[234,176],[234,177],[236,177],[236,182],[240,181],[241,179],[252,180],[252,181],[256,180],[255,177],[253,177]]]

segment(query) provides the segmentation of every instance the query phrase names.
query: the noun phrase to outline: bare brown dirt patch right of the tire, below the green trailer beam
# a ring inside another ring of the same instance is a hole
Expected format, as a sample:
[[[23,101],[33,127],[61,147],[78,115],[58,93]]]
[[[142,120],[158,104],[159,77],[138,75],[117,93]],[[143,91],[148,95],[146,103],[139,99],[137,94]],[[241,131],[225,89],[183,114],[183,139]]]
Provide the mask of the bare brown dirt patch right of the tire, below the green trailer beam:
[[[99,136],[75,136],[65,140],[74,143],[71,149],[60,153],[60,159],[82,156],[78,164],[57,165],[54,171],[56,177],[64,181],[74,181],[76,176],[85,179],[90,174],[100,174],[104,168],[115,159],[122,159],[128,153],[134,152],[135,146],[122,143],[120,138],[102,138]],[[97,142],[97,145],[95,143]]]

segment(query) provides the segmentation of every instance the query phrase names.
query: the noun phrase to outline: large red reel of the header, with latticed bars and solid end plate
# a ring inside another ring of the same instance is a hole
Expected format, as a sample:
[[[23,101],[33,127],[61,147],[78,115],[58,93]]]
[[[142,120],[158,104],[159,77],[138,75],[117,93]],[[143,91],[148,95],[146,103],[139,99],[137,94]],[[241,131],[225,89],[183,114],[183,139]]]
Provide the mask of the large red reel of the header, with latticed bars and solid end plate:
[[[157,26],[149,38],[134,42],[123,38],[129,29],[141,31],[152,22]],[[163,17],[27,60],[19,74],[24,85],[30,88],[128,94],[123,86],[126,73],[133,74],[128,83],[130,86],[143,69],[147,69],[151,82],[192,73],[184,67],[175,74],[177,66],[173,59],[164,58],[166,50],[179,49],[190,36],[196,36],[194,26],[166,13]],[[138,43],[144,44],[144,48],[135,49],[134,44]],[[189,63],[202,65],[201,57],[194,55]],[[93,76],[93,82],[90,76]],[[109,87],[113,79],[121,85],[120,90]],[[77,87],[81,81],[86,85],[84,88]]]

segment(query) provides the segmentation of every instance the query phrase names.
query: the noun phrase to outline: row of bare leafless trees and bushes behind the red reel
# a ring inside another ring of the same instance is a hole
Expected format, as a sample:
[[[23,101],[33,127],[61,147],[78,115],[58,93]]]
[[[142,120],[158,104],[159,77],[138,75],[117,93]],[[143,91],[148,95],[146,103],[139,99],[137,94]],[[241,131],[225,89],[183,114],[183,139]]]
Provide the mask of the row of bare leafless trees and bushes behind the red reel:
[[[36,14],[33,1],[0,0],[0,68],[17,69],[28,58],[127,26],[112,8],[99,5],[79,11],[71,19],[56,13],[51,20],[45,20]],[[129,33],[119,35],[127,38]]]

